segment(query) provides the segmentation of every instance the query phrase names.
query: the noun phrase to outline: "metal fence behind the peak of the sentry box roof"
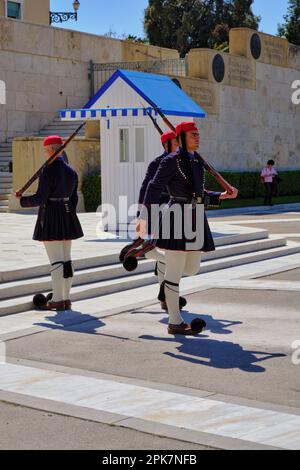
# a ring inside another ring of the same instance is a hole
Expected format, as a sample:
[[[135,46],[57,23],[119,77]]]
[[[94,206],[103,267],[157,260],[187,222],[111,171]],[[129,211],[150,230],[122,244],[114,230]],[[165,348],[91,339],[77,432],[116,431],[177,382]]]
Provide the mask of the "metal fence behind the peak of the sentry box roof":
[[[112,62],[108,64],[96,64],[90,61],[91,98],[118,69],[174,75],[177,77],[186,77],[188,75],[186,59]]]

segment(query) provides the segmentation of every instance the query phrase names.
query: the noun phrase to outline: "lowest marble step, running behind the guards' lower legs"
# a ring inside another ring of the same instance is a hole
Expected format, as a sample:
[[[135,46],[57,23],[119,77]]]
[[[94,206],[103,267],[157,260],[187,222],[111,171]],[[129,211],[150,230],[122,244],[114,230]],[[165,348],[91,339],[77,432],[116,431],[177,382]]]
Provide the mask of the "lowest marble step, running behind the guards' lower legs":
[[[282,256],[288,256],[300,252],[300,246],[296,243],[289,242],[287,246],[281,248],[271,248],[247,255],[231,256],[224,259],[205,261],[201,265],[200,274],[218,271],[222,269],[232,268],[234,266],[242,266],[258,261],[265,261]],[[143,262],[142,262],[143,263]],[[148,261],[144,263],[150,263]],[[152,265],[153,266],[153,265]],[[151,272],[131,275],[128,277],[112,279],[107,281],[95,282],[88,285],[75,286],[72,289],[73,301],[85,300],[89,298],[97,298],[103,295],[113,295],[122,291],[128,291],[137,287],[155,284],[156,276]],[[35,291],[36,292],[36,291]],[[10,298],[8,300],[0,300],[0,316],[21,313],[32,309],[32,295],[24,297]]]

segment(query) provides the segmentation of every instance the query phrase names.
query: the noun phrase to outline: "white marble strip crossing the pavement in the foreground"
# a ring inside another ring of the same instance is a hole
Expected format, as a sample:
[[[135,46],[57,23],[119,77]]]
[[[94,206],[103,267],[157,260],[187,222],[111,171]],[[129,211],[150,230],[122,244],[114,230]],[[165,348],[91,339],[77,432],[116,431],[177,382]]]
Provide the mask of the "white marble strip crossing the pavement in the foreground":
[[[300,449],[300,416],[138,385],[0,364],[0,390],[287,450]]]

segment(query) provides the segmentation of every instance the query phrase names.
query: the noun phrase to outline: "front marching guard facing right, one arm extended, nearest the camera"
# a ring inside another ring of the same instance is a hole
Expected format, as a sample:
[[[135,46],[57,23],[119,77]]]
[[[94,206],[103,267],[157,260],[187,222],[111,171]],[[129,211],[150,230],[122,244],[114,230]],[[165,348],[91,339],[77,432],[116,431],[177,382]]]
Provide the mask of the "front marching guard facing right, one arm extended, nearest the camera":
[[[179,124],[176,127],[176,135],[179,147],[176,152],[161,160],[153,179],[150,180],[144,195],[143,209],[136,231],[140,240],[144,240],[145,236],[149,234],[151,208],[160,204],[161,196],[165,188],[168,188],[167,208],[163,211],[159,231],[153,237],[154,243],[145,256],[158,263],[161,284],[159,300],[165,302],[167,306],[169,334],[196,335],[206,325],[202,319],[195,319],[191,324],[187,324],[183,320],[179,303],[180,280],[184,275],[198,274],[202,252],[215,250],[207,217],[205,213],[204,218],[201,216],[203,211],[199,211],[197,206],[199,204],[202,207],[204,205],[218,206],[221,200],[235,199],[238,191],[235,188],[230,188],[230,191],[217,193],[207,191],[204,188],[204,163],[196,153],[200,144],[200,135],[194,122]],[[175,205],[181,209],[182,218],[180,220],[181,227],[179,227],[182,229],[181,236],[178,236],[176,219],[170,217]],[[185,208],[191,209],[186,211]],[[170,223],[170,227],[166,230],[169,233],[168,237],[162,235],[165,221]],[[198,246],[196,239],[190,239],[186,236],[186,225],[193,227],[193,233],[197,232],[197,227],[202,227],[202,231],[204,231],[203,246]]]

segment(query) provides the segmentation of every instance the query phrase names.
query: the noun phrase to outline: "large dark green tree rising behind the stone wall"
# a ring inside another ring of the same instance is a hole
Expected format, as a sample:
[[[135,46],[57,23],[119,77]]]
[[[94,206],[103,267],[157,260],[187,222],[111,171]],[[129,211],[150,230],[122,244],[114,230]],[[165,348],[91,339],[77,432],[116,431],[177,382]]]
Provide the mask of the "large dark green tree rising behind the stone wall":
[[[145,32],[150,44],[176,48],[184,56],[191,48],[228,43],[229,28],[258,29],[260,18],[253,14],[252,3],[253,0],[149,0]],[[219,25],[222,28],[217,28]]]

